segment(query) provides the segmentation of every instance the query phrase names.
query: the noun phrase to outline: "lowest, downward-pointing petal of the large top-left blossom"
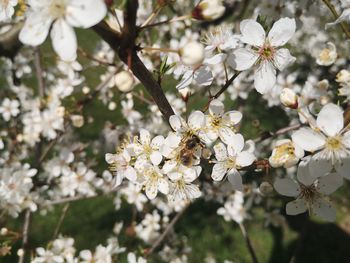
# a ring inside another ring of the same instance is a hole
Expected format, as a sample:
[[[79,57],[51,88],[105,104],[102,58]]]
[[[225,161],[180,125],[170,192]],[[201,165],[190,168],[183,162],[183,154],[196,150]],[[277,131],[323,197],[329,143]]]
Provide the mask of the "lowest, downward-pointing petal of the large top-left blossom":
[[[73,28],[63,19],[56,20],[51,29],[52,46],[62,60],[73,61],[77,57],[77,38]]]

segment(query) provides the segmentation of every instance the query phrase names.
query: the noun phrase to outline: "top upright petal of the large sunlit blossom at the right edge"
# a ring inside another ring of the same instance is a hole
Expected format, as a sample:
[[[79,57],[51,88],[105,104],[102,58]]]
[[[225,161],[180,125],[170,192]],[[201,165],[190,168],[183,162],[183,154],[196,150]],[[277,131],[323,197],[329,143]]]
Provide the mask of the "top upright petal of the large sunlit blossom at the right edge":
[[[325,105],[317,116],[317,126],[328,136],[337,135],[344,127],[343,110],[333,103]]]

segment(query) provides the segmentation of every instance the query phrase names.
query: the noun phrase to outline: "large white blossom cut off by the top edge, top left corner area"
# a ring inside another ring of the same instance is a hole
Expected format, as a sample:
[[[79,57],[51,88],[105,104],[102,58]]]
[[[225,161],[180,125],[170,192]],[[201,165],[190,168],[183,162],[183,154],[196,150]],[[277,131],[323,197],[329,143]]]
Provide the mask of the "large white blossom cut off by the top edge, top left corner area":
[[[62,60],[75,60],[77,39],[73,27],[92,27],[106,13],[103,0],[32,0],[19,39],[27,45],[41,45],[52,25],[53,49]]]

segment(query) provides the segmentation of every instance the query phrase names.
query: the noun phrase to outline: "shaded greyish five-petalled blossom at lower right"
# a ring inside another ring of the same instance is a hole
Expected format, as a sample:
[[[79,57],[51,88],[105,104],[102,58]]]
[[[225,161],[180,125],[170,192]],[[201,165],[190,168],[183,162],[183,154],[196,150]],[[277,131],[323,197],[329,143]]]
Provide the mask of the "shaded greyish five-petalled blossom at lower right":
[[[290,178],[278,178],[274,187],[279,194],[296,198],[286,206],[288,215],[308,210],[311,215],[334,221],[335,209],[326,196],[336,191],[343,184],[343,179],[335,173],[310,174],[310,171],[308,162],[302,162],[298,167],[298,182]]]

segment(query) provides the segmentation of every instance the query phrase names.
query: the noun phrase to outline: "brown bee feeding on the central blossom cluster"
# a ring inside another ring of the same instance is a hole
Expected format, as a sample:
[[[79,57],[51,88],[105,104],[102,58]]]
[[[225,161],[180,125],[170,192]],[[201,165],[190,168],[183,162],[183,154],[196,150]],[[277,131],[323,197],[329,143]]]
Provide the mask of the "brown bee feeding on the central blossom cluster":
[[[184,141],[184,146],[180,150],[179,159],[181,164],[191,167],[193,165],[193,161],[198,158],[203,145],[196,135],[192,135],[189,139]]]

